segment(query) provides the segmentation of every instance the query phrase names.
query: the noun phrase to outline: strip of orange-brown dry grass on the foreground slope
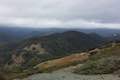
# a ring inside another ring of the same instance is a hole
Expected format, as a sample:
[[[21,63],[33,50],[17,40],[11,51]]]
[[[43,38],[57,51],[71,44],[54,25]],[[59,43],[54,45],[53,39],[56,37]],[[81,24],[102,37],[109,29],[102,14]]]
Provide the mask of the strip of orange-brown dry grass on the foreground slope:
[[[76,65],[86,61],[88,58],[89,55],[87,53],[73,54],[60,59],[43,62],[34,68],[39,70],[39,72],[50,72],[70,65]]]

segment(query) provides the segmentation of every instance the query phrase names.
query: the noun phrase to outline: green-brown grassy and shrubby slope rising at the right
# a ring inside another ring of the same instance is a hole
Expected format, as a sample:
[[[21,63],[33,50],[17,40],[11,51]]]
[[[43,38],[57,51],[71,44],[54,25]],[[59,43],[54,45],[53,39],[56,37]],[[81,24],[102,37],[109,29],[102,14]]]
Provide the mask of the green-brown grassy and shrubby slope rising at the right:
[[[110,74],[120,69],[120,44],[106,47],[90,57],[80,68],[75,70],[79,74]]]

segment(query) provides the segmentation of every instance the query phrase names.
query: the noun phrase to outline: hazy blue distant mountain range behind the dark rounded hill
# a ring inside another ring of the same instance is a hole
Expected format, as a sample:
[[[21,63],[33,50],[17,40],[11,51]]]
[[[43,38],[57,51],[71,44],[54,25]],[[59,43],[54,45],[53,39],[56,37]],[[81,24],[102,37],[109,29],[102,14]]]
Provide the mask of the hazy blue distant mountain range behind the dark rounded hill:
[[[65,31],[79,31],[84,33],[96,33],[102,37],[112,37],[113,34],[120,34],[117,29],[79,29],[79,28],[20,28],[11,26],[0,26],[0,44],[21,41],[35,36],[45,36],[52,33]]]

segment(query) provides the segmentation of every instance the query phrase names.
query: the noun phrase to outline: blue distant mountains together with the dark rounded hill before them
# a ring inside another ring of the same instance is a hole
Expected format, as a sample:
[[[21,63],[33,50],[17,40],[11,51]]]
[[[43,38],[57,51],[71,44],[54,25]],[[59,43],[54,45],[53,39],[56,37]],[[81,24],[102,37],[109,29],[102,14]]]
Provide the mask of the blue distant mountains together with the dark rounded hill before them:
[[[113,36],[117,34],[117,36]],[[19,50],[32,43],[54,55],[85,51],[107,40],[120,39],[116,29],[20,28],[0,26],[0,50]]]

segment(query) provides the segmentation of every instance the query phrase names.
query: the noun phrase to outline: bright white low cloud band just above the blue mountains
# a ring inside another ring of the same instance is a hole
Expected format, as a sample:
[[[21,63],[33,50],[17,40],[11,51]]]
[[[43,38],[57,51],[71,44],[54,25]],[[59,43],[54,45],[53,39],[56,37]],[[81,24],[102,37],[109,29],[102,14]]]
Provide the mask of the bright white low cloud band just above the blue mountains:
[[[49,20],[49,19],[33,19],[33,18],[3,18],[0,24],[14,25],[19,27],[43,27],[43,28],[116,28],[120,29],[120,23],[99,23],[86,20]]]

